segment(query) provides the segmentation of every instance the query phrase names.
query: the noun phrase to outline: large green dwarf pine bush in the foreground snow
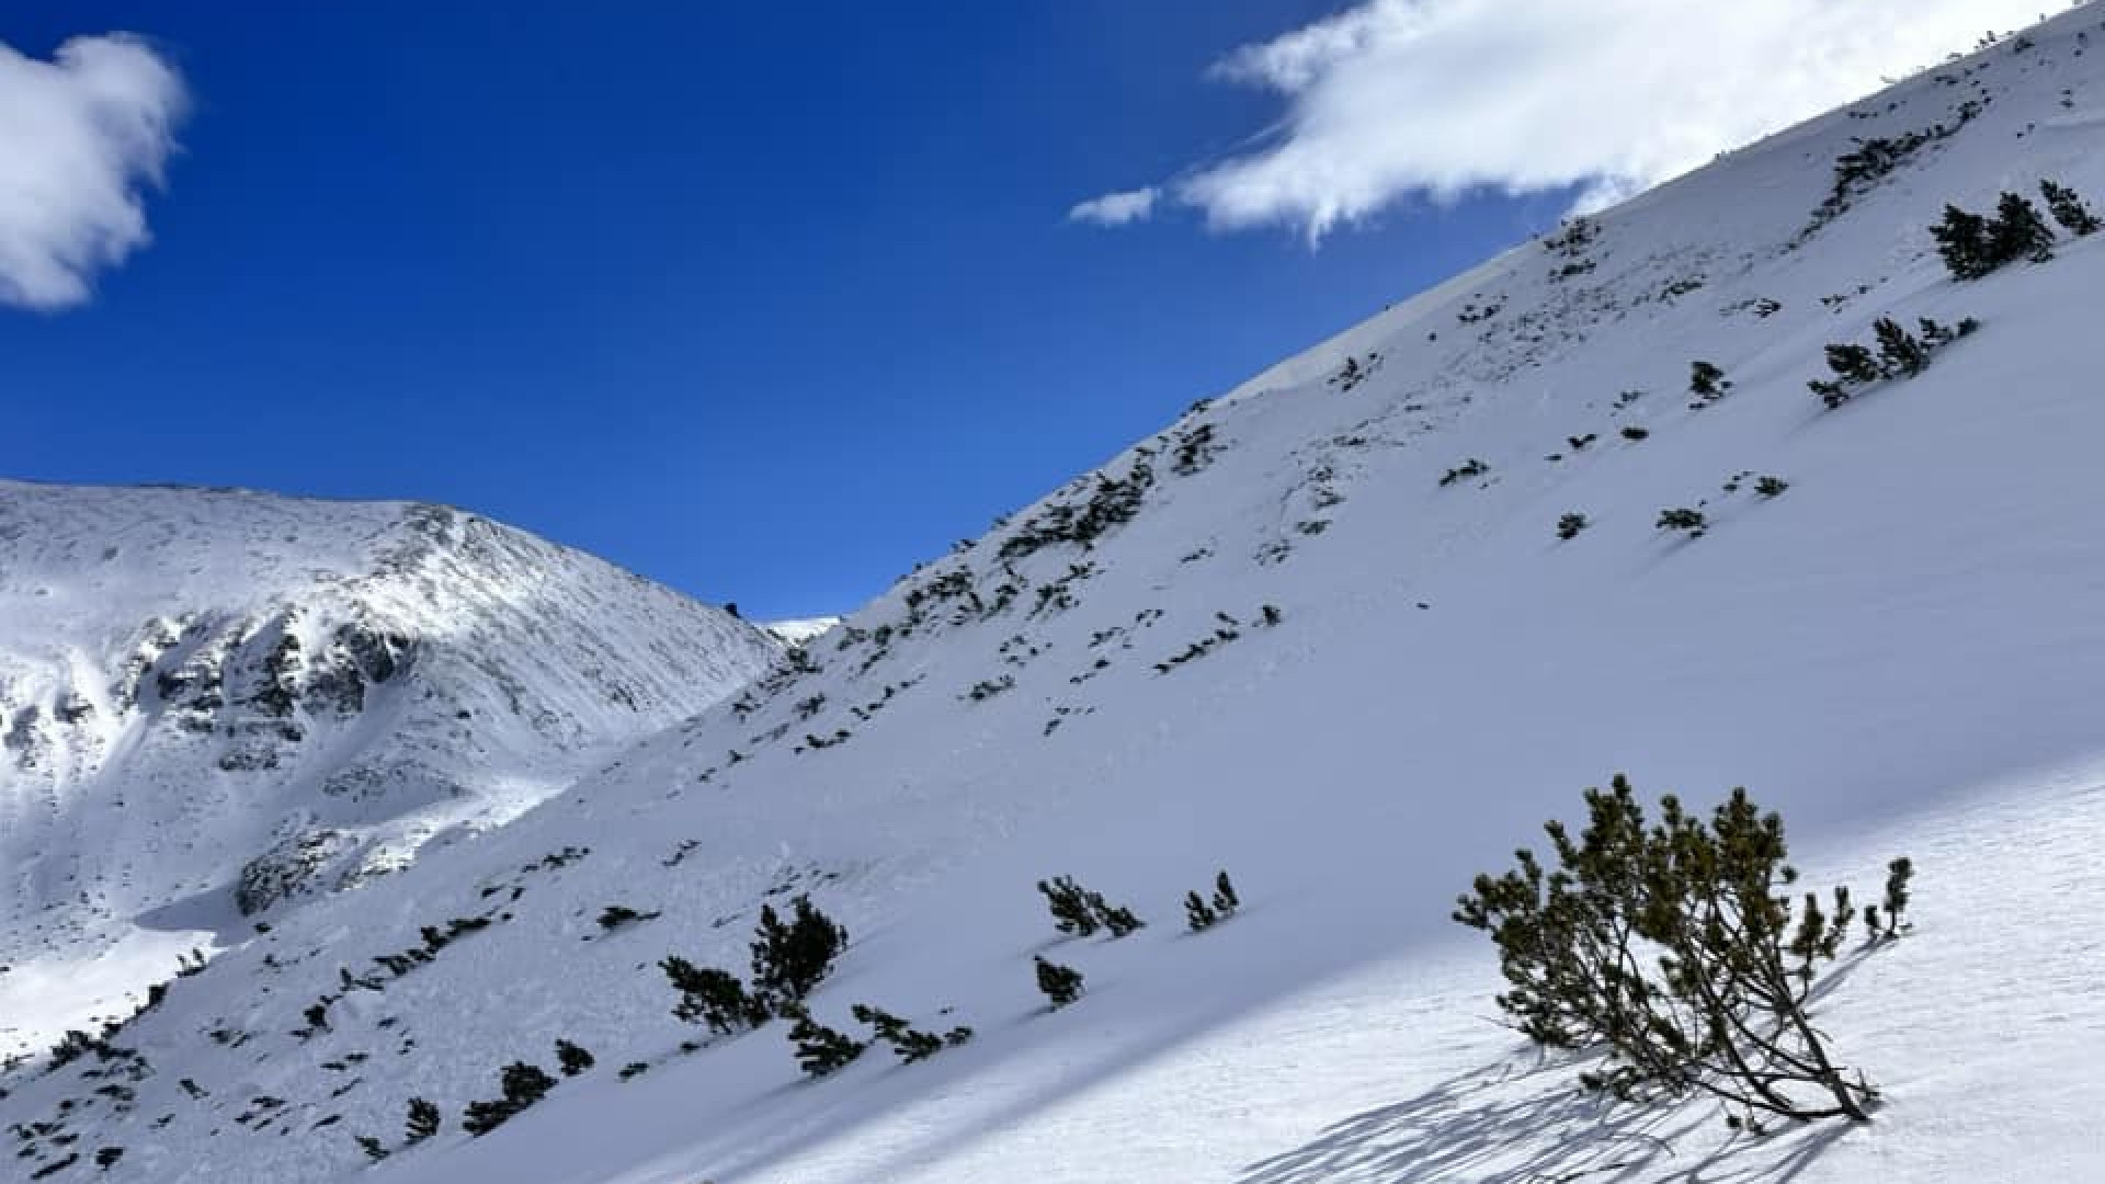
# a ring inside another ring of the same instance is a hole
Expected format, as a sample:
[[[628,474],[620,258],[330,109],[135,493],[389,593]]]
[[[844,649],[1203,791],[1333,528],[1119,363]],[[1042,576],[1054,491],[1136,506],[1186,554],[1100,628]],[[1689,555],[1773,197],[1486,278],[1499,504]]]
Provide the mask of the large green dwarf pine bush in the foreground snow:
[[[1751,1129],[1762,1114],[1865,1121],[1878,1091],[1806,1007],[1857,914],[1848,889],[1798,895],[1783,820],[1745,790],[1707,822],[1673,796],[1648,822],[1621,775],[1585,803],[1579,834],[1545,826],[1553,866],[1518,851],[1459,900],[1455,921],[1499,948],[1499,1007],[1541,1045],[1602,1047],[1581,1081],[1623,1100],[1701,1089]]]

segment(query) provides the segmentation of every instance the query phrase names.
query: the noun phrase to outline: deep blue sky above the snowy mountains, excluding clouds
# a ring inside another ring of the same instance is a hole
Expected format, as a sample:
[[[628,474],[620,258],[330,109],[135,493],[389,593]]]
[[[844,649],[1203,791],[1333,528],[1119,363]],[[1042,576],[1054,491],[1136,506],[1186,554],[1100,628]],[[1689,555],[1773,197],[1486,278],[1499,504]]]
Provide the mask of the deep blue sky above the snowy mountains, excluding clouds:
[[[1065,221],[1261,133],[1204,70],[1330,8],[11,4],[36,57],[154,38],[194,114],[156,242],[88,308],[0,310],[0,472],[450,501],[747,615],[853,609],[1553,221]]]

